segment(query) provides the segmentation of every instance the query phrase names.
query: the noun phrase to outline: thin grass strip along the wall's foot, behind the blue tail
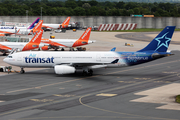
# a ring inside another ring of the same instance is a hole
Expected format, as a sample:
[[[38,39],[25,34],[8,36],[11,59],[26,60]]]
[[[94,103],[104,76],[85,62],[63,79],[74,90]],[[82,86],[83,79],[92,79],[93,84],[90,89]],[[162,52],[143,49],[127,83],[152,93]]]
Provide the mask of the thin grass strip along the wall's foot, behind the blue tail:
[[[114,31],[100,31],[100,32],[159,32],[163,29],[155,28],[137,28],[135,30],[114,30]],[[175,31],[180,31],[180,29],[175,29]]]

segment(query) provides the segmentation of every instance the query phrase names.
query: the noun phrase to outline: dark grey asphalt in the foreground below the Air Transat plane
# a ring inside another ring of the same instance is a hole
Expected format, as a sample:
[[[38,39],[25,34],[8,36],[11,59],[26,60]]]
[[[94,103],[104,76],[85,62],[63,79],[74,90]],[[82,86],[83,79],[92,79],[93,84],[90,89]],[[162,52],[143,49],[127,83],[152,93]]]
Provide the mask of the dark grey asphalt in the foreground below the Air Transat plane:
[[[163,104],[132,102],[135,93],[180,82],[180,52],[149,63],[94,70],[53,69],[0,76],[0,120],[179,120]]]

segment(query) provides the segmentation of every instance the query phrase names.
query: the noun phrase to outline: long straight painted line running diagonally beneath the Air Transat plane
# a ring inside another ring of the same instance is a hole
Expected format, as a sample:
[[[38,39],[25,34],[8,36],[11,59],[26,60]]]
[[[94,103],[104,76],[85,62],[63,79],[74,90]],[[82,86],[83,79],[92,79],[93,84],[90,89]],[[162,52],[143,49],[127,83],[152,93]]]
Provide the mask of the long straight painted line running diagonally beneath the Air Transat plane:
[[[153,64],[153,65],[149,65],[149,66],[145,66],[145,67],[137,67],[137,68],[127,69],[127,70],[121,70],[121,71],[106,73],[106,74],[102,74],[102,75],[89,76],[89,77],[85,77],[85,78],[73,79],[73,80],[64,81],[64,82],[52,83],[52,84],[47,84],[47,85],[42,85],[42,86],[36,86],[36,87],[31,87],[31,88],[20,89],[20,90],[14,90],[14,91],[6,92],[6,93],[14,93],[14,92],[21,92],[21,91],[26,91],[26,90],[36,89],[36,88],[49,87],[49,86],[53,86],[53,85],[58,85],[58,84],[83,80],[83,79],[86,79],[86,78],[94,78],[94,77],[99,77],[99,76],[103,76],[103,75],[110,75],[110,74],[114,74],[114,73],[122,73],[122,72],[126,72],[126,71],[137,70],[137,69],[142,69],[142,68],[148,68],[148,67],[153,67],[153,66],[159,66],[159,65],[164,65],[164,64],[167,64],[167,63],[174,63],[174,62],[179,62],[179,61],[180,60],[175,60],[175,61],[170,61],[170,62],[165,62],[165,63]]]

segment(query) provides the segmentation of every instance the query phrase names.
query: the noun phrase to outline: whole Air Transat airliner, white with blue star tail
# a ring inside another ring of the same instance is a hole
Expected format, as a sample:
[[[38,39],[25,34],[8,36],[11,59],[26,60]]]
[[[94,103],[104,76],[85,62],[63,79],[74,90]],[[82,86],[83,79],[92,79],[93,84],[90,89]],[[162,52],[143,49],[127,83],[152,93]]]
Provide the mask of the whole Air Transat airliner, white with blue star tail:
[[[25,51],[9,54],[4,62],[25,67],[54,68],[56,74],[72,74],[81,69],[83,74],[92,75],[93,69],[138,65],[171,55],[167,52],[175,26],[165,27],[145,48],[137,52],[115,51]]]

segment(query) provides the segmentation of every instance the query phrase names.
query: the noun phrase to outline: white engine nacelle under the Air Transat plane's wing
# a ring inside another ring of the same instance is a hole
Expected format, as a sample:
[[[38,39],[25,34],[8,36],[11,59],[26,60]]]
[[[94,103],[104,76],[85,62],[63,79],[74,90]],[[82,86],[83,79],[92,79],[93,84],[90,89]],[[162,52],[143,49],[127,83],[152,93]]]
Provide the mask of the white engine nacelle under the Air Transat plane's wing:
[[[63,75],[63,74],[75,73],[76,69],[68,65],[56,65],[54,67],[54,71],[56,74]]]

